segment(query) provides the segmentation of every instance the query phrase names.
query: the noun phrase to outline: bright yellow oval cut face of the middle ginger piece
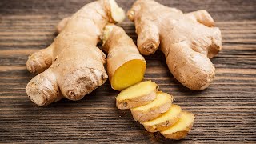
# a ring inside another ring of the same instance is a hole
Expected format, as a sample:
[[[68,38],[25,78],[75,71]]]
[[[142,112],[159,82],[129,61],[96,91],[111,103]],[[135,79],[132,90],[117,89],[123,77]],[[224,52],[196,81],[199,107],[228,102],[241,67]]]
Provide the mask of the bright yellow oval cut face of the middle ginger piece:
[[[123,90],[129,86],[141,82],[146,70],[146,61],[134,59],[124,63],[115,70],[111,78],[111,86],[114,90]]]

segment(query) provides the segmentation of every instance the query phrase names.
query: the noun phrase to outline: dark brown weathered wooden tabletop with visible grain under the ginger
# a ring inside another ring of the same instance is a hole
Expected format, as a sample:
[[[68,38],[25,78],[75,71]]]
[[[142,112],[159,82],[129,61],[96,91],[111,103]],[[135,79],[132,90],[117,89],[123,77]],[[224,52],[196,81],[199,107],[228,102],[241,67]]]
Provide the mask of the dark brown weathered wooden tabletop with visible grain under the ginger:
[[[34,77],[27,56],[49,46],[56,24],[90,0],[0,1],[0,142],[168,141],[134,122],[129,110],[115,107],[110,83],[78,102],[63,99],[39,107],[26,95]],[[118,0],[128,10],[134,1]],[[256,142],[256,1],[158,0],[184,12],[205,9],[222,30],[223,50],[212,59],[217,74],[203,91],[188,90],[167,69],[163,54],[146,57],[146,80],[175,97],[175,104],[196,114],[194,128],[178,143]],[[134,24],[120,24],[136,41]]]

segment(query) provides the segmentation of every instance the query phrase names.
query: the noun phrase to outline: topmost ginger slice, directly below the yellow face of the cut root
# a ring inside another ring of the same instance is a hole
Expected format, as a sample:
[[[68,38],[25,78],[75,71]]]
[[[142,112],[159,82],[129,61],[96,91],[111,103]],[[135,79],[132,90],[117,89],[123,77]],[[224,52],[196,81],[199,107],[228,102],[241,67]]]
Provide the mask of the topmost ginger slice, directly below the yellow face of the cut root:
[[[116,106],[118,109],[130,109],[146,105],[157,97],[157,87],[158,85],[151,81],[139,82],[130,86],[118,94]]]

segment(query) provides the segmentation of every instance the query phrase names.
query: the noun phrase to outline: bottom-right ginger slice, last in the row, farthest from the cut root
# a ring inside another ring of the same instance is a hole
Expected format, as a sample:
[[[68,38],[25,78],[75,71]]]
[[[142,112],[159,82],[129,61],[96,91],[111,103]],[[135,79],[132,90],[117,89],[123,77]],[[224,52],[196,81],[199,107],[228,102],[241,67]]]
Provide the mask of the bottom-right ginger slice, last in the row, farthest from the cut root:
[[[166,130],[162,130],[161,134],[165,138],[179,140],[185,138],[190,132],[194,123],[194,114],[186,111],[182,111],[181,118],[173,126],[170,126]]]

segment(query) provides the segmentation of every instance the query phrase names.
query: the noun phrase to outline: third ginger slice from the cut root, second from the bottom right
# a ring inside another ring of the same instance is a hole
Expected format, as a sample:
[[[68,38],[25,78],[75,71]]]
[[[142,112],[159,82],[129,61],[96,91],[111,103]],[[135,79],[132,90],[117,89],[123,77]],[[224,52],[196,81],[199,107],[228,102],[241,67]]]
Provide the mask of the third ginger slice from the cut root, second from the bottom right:
[[[172,105],[170,110],[166,111],[165,114],[160,115],[158,118],[154,118],[151,121],[143,122],[143,126],[149,132],[157,132],[165,130],[172,126],[181,117],[182,108],[178,105]]]

